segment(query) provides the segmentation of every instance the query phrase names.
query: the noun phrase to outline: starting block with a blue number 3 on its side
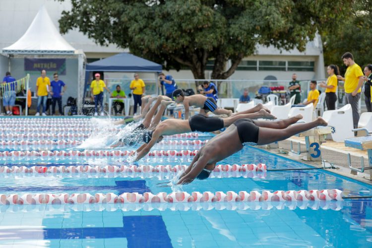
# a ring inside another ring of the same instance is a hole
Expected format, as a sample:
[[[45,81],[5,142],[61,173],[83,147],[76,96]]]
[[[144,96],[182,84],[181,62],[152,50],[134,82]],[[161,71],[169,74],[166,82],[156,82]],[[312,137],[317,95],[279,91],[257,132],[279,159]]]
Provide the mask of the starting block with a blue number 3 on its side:
[[[308,131],[297,134],[298,137],[305,137],[306,150],[301,151],[301,144],[298,143],[298,151],[293,150],[291,141],[291,152],[295,154],[307,153],[306,161],[322,161],[320,145],[325,140],[326,135],[332,133],[332,126],[315,127]]]

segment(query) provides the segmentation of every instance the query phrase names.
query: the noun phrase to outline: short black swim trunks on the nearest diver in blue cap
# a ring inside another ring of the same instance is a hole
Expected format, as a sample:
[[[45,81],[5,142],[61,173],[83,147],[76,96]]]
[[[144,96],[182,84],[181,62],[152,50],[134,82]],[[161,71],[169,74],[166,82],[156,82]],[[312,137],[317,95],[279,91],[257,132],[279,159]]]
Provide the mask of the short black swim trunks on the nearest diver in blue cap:
[[[257,145],[259,128],[250,119],[239,119],[234,122],[238,128],[239,139],[242,145]]]

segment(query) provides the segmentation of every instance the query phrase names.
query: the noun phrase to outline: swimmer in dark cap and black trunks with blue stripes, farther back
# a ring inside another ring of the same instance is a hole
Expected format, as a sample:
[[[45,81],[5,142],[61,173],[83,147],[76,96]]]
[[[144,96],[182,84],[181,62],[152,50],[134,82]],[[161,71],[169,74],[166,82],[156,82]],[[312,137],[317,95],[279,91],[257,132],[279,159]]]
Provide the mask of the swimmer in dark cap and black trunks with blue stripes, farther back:
[[[172,93],[173,100],[176,103],[183,103],[185,107],[185,119],[188,119],[190,106],[200,108],[200,115],[206,116],[210,111],[215,115],[227,115],[231,116],[233,113],[231,110],[220,109],[217,107],[217,103],[212,97],[206,97],[200,94],[185,96],[182,89],[177,89]]]

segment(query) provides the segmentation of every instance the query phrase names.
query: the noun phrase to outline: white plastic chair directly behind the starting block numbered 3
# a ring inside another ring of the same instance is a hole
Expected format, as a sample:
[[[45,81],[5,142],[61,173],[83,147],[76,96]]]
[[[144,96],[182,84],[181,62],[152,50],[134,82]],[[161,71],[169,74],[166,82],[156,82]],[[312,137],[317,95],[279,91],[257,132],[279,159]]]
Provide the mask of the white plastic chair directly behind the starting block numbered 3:
[[[325,111],[322,118],[328,125],[334,127],[332,129],[334,133],[331,133],[333,141],[344,142],[345,139],[354,137],[353,112],[350,104],[338,110]]]

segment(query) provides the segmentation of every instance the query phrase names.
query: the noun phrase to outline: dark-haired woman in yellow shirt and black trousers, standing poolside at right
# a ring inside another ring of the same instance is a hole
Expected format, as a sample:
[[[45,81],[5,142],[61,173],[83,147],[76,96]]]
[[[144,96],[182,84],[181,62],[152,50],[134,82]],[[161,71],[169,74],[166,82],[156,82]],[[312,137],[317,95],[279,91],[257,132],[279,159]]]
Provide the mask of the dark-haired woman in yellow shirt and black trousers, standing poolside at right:
[[[328,65],[327,73],[329,75],[327,83],[323,81],[319,84],[319,86],[325,88],[325,103],[327,105],[327,109],[335,110],[337,101],[336,90],[338,84],[338,79],[336,75],[338,75],[339,73],[337,65],[334,64]]]

